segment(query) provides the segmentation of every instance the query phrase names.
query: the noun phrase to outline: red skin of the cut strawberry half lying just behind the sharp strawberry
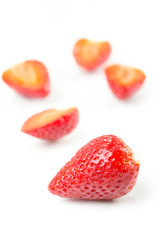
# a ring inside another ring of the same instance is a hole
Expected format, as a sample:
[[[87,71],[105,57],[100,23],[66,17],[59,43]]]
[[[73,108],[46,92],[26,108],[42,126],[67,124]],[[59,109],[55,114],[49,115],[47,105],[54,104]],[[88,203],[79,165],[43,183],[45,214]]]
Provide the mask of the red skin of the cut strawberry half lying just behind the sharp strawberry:
[[[43,127],[22,131],[40,139],[53,141],[69,134],[77,126],[78,121],[79,112],[75,109]]]

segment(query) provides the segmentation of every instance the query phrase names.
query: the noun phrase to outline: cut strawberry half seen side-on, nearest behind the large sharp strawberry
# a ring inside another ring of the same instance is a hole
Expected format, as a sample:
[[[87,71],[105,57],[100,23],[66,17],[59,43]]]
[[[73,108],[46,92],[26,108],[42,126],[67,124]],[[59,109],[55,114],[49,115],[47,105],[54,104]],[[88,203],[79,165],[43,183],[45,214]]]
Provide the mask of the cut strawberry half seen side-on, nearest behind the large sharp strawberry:
[[[56,140],[70,133],[76,127],[78,120],[77,108],[50,109],[29,118],[21,131],[37,138]]]

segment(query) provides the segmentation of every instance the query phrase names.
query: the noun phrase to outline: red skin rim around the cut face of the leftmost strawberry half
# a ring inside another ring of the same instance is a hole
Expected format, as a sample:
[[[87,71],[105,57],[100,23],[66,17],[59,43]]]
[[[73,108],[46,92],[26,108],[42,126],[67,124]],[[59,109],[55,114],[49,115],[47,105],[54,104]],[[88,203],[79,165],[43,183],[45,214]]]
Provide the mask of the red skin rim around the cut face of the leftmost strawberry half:
[[[42,86],[37,85],[34,89],[32,89],[29,87],[24,87],[22,85],[15,84],[14,82],[12,82],[12,79],[4,75],[5,73],[2,75],[2,79],[8,86],[16,90],[18,93],[24,95],[25,97],[31,97],[31,98],[46,97],[50,92],[50,80],[49,80],[49,74],[46,67],[44,66],[43,63],[36,60],[29,60],[24,63],[31,63],[36,66],[36,68],[38,69],[41,81],[43,82]]]

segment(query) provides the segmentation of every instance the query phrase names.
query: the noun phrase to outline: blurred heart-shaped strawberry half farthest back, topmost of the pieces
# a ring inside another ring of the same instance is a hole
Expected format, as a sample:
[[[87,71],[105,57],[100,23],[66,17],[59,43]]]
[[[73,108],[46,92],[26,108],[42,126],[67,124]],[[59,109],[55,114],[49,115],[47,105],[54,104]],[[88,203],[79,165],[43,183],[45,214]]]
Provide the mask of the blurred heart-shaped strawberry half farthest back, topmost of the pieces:
[[[81,67],[93,70],[106,61],[110,52],[111,46],[108,42],[80,39],[74,46],[73,55]]]

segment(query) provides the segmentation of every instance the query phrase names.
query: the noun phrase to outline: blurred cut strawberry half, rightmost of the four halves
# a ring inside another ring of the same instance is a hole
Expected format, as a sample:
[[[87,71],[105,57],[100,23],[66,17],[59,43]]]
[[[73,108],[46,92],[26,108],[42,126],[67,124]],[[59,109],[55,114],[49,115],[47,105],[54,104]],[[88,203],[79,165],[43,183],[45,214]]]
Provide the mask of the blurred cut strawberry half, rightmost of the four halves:
[[[129,98],[145,80],[145,74],[136,68],[112,65],[105,69],[108,84],[113,93],[120,99]]]

